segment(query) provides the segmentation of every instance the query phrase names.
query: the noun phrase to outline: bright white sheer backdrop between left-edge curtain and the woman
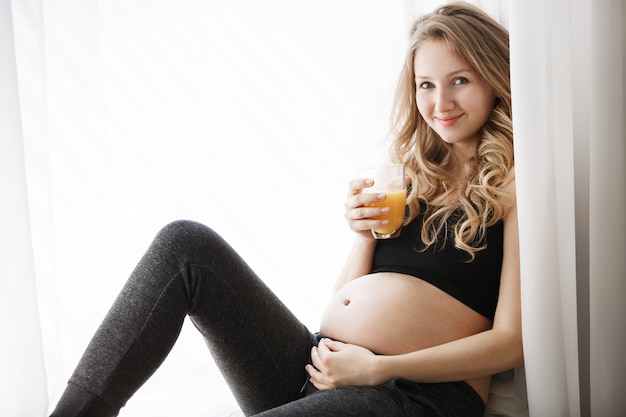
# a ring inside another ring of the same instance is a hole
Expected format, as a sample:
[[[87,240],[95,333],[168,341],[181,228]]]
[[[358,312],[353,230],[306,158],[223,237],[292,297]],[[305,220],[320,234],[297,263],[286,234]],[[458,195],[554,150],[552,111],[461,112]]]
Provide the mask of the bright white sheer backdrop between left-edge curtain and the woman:
[[[222,233],[316,330],[351,243],[347,181],[385,156],[412,15],[410,2],[13,2],[50,406],[174,219]],[[124,414],[231,402],[187,324]]]

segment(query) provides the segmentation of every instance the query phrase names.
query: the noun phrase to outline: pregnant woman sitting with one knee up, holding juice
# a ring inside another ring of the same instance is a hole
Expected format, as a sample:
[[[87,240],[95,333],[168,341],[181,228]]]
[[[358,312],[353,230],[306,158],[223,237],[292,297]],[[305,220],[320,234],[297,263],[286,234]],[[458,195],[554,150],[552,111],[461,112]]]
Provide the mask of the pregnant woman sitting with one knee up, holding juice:
[[[189,316],[246,415],[482,416],[523,363],[508,34],[477,8],[418,19],[390,160],[407,216],[376,240],[384,194],[350,182],[355,242],[310,332],[206,226],[165,226],[95,333],[52,416],[115,416]],[[210,395],[210,393],[207,393]]]

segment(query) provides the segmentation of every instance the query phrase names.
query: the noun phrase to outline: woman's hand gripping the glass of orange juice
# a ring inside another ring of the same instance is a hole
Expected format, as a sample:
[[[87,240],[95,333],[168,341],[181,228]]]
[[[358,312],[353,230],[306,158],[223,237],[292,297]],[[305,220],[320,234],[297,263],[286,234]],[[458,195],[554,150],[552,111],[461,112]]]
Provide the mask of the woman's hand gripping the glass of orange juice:
[[[345,218],[348,226],[367,240],[374,240],[372,229],[389,223],[387,219],[379,220],[376,218],[389,214],[389,207],[370,206],[374,202],[384,201],[387,198],[385,193],[368,193],[366,189],[372,185],[374,185],[374,181],[367,178],[350,181],[348,199],[345,204]]]

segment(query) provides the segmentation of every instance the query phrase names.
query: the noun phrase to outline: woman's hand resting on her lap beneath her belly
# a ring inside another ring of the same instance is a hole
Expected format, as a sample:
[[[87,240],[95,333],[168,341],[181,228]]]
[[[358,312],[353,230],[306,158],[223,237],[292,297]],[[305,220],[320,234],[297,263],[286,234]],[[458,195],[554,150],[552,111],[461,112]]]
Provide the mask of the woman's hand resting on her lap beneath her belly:
[[[336,389],[347,385],[378,385],[372,371],[376,355],[356,345],[322,339],[311,350],[313,365],[306,371],[311,383],[319,390]]]

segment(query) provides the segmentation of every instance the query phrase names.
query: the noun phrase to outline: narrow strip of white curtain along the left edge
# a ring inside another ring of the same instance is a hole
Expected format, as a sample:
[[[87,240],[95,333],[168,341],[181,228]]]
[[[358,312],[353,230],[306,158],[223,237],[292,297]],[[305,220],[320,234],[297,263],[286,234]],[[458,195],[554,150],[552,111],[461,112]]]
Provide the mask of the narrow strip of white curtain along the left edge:
[[[11,7],[0,2],[0,415],[46,411]]]

